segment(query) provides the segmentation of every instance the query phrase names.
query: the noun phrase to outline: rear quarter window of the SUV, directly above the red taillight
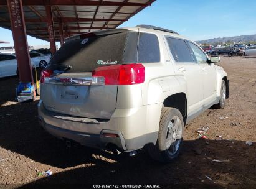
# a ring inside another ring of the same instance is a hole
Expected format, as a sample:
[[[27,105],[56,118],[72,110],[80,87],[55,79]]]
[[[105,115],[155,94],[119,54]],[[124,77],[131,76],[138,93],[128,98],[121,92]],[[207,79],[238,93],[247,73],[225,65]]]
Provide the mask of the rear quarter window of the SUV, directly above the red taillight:
[[[160,62],[158,37],[140,32],[138,63]]]

